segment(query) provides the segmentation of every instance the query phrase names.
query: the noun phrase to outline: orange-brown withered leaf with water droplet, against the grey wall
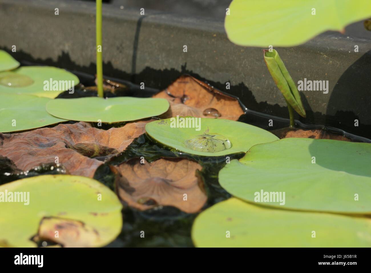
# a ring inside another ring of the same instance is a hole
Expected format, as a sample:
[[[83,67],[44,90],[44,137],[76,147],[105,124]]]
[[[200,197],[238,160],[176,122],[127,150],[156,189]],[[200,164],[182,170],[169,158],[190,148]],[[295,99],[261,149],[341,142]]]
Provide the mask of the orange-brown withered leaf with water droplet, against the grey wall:
[[[244,113],[238,100],[189,75],[183,75],[153,96],[165,98],[169,110],[161,118],[194,116],[238,120]]]

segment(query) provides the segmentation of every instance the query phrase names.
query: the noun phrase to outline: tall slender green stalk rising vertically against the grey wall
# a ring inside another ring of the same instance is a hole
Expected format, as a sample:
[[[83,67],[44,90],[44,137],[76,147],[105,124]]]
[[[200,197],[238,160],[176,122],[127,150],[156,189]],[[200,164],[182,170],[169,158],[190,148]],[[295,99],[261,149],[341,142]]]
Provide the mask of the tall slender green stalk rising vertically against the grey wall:
[[[103,61],[102,61],[102,0],[96,0],[96,79],[98,96],[103,98]]]

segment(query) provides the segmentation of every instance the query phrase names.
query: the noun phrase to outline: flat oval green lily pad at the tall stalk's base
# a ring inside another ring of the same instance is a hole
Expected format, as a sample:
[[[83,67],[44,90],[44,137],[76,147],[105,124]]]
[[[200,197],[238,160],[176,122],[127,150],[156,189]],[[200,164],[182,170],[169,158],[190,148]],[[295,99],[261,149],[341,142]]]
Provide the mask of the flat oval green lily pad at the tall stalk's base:
[[[46,104],[46,111],[53,116],[68,120],[114,123],[140,120],[165,113],[169,108],[162,98],[72,98],[56,99]]]

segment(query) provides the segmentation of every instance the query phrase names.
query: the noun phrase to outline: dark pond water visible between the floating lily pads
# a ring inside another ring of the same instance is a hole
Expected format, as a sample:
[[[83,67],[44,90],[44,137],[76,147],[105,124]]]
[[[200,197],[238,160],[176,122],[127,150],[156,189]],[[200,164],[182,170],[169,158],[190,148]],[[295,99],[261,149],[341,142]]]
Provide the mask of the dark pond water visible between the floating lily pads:
[[[94,88],[85,87],[94,85],[94,82],[92,81],[92,75],[86,75],[86,77],[84,77],[83,75],[84,74],[79,74],[79,78],[82,84],[75,88],[74,94],[69,94],[69,92],[66,91],[60,94],[58,97],[76,98],[96,96],[96,90]],[[118,82],[120,86],[115,84],[115,92],[105,92],[106,97],[115,97],[122,95],[150,97],[151,95],[160,91],[155,89],[142,90],[138,85],[134,85],[130,82],[120,81],[117,79],[113,80],[114,82]],[[246,109],[244,105],[241,104],[241,106],[243,109]],[[215,109],[207,110],[207,114],[217,114],[214,111]],[[239,121],[252,124],[262,129],[272,130],[272,127],[269,127],[269,123],[267,123],[267,120],[270,119],[272,119],[272,121],[275,123],[274,129],[285,128],[289,125],[289,120],[286,118],[270,116],[252,110],[246,110],[246,113],[239,118]],[[69,123],[73,123],[73,121],[69,121]],[[115,124],[114,126],[117,127],[122,125],[124,125],[124,123]],[[93,126],[97,127],[97,124],[93,124]],[[304,124],[299,122],[296,123],[296,126],[303,129],[323,128],[323,126]],[[107,130],[111,127],[113,126],[104,124],[103,127],[99,128]],[[341,129],[325,128],[325,130],[331,133],[344,135],[355,142],[371,143],[370,139],[346,133]],[[230,160],[239,159],[243,155],[243,153],[230,155]],[[229,193],[221,188],[218,182],[218,173],[219,170],[226,164],[226,156],[202,157],[179,152],[154,142],[154,140],[152,140],[146,134],[143,134],[134,139],[134,141],[127,147],[127,149],[117,156],[114,156],[110,159],[107,159],[107,157],[104,155],[95,157],[96,159],[104,161],[105,163],[104,165],[99,166],[99,168],[96,170],[94,179],[104,183],[106,186],[115,191],[115,173],[112,172],[109,165],[117,165],[122,162],[126,162],[132,158],[140,158],[141,156],[144,156],[144,158],[148,162],[152,162],[161,157],[185,157],[198,162],[203,167],[199,175],[200,178],[204,181],[204,191],[207,194],[207,202],[202,210],[231,197]],[[7,161],[4,158],[0,158],[0,165],[2,167],[0,169],[8,173],[10,172],[10,169],[12,169],[9,160]],[[4,171],[3,173],[0,173],[0,178],[1,181],[5,181],[4,179],[6,179],[6,182],[45,173],[65,173],[65,169],[63,168],[63,166],[56,166],[55,164],[42,165],[34,168],[29,173],[20,173],[18,175],[4,176]],[[125,207],[122,210],[122,232],[107,247],[192,247],[193,243],[191,240],[191,227],[196,216],[197,213],[188,214],[171,206],[159,206],[145,211],[139,211],[135,208]],[[145,239],[140,236],[141,234],[143,234],[143,231],[145,234]],[[41,246],[42,244],[42,242],[37,243],[39,246]],[[49,245],[53,244],[53,242],[47,243]],[[43,246],[45,246],[45,243],[43,244]]]

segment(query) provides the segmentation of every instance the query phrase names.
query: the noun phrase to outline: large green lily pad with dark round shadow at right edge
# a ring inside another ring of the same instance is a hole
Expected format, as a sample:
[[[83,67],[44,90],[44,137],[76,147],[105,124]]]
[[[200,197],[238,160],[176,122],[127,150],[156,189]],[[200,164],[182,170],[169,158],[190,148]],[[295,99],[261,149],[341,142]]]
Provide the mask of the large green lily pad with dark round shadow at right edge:
[[[220,170],[219,183],[230,194],[261,205],[369,214],[370,162],[370,143],[287,138],[256,145],[232,160]]]

